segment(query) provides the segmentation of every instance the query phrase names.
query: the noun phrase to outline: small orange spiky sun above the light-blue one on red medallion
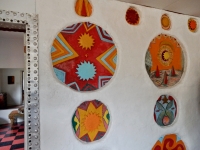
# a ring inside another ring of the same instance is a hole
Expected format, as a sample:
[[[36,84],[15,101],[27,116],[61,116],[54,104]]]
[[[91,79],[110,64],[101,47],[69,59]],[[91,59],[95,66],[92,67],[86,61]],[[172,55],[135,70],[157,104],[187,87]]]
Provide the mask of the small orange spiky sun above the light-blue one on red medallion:
[[[89,33],[84,33],[79,36],[78,43],[82,49],[91,50],[92,46],[94,46],[94,39]]]

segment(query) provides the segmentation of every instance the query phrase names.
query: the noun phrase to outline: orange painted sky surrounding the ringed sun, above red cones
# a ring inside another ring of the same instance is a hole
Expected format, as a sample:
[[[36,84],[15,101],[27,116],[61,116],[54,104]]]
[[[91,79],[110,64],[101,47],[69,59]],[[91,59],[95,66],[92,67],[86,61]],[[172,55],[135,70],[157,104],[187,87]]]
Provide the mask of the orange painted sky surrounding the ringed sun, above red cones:
[[[158,54],[160,51],[160,47],[162,45],[167,45],[171,48],[173,56],[172,56],[172,61],[171,63],[166,66],[163,65],[159,59]],[[155,71],[157,69],[157,66],[159,68],[159,70],[168,70],[171,69],[172,66],[174,66],[175,70],[182,70],[182,54],[181,54],[181,47],[179,46],[178,42],[170,36],[167,35],[159,35],[157,36],[151,43],[149,46],[149,51],[151,53],[151,57],[152,57],[152,67],[151,67],[151,71]]]

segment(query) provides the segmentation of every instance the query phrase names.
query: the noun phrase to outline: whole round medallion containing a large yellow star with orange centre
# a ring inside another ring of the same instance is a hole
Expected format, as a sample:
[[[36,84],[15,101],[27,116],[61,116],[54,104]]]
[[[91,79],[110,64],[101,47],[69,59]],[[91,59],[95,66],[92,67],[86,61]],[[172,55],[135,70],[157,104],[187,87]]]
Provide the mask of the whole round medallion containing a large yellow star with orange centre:
[[[110,114],[98,100],[85,101],[79,105],[72,117],[72,126],[78,139],[93,142],[101,139],[109,126]]]

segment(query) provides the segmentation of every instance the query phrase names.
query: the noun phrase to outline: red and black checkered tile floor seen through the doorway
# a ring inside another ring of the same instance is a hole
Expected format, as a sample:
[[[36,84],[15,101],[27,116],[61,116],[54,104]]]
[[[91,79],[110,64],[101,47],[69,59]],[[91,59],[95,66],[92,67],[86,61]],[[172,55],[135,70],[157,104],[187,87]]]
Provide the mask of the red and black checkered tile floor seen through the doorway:
[[[24,122],[0,125],[0,150],[24,150]]]

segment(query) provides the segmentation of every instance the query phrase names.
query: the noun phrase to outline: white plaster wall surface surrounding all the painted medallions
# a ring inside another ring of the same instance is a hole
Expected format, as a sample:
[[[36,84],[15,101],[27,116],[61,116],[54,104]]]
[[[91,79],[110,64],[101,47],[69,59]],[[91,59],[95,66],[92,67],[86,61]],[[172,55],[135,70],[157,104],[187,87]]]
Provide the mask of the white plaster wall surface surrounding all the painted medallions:
[[[172,21],[169,31],[162,30],[162,10],[135,6],[141,14],[139,26],[125,20],[131,4],[112,0],[91,0],[91,17],[74,11],[75,0],[37,0],[39,14],[40,122],[42,150],[150,150],[158,138],[176,133],[188,150],[200,147],[200,31],[187,28],[189,16],[167,12]],[[134,5],[133,5],[134,6]],[[112,80],[94,92],[76,92],[56,79],[50,48],[57,33],[66,26],[90,21],[105,29],[116,43],[118,65]],[[200,19],[198,18],[200,22]],[[145,69],[145,54],[151,40],[160,33],[176,37],[182,44],[186,69],[180,83],[158,89]],[[153,109],[162,94],[172,95],[178,114],[172,126],[161,128],[153,119]],[[98,99],[107,105],[111,124],[101,140],[84,144],[73,133],[71,119],[76,107],[85,100]]]

